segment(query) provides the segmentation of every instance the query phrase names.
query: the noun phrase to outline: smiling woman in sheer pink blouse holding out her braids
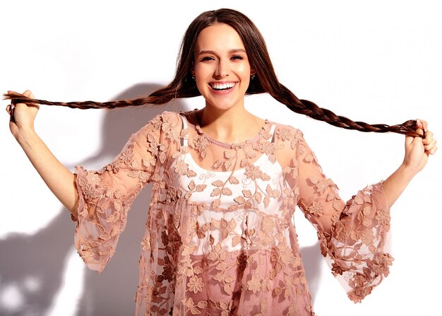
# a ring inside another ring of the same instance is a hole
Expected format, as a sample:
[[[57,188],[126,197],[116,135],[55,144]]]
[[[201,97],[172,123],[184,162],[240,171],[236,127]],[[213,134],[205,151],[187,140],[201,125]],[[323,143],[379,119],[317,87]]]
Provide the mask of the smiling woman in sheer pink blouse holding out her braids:
[[[384,249],[390,206],[436,152],[426,122],[369,125],[298,100],[277,81],[256,26],[237,11],[198,16],[180,54],[172,83],[146,98],[49,103],[30,91],[8,94],[11,132],[71,210],[76,247],[88,267],[104,269],[131,202],[153,182],[137,315],[313,315],[291,221],[295,205],[318,230],[323,255],[350,299],[362,300],[393,260]],[[404,162],[345,204],[301,131],[245,110],[244,95],[264,92],[338,127],[408,134]],[[112,108],[200,94],[202,110],[155,117],[97,172],[72,174],[33,131],[37,103]]]

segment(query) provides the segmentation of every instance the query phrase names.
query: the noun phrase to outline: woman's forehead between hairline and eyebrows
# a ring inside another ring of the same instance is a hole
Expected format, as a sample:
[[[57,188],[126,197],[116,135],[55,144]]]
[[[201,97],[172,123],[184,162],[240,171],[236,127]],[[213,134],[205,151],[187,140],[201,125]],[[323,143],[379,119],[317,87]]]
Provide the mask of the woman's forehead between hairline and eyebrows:
[[[223,51],[244,49],[244,44],[232,26],[215,23],[203,29],[196,40],[196,52],[202,50]]]

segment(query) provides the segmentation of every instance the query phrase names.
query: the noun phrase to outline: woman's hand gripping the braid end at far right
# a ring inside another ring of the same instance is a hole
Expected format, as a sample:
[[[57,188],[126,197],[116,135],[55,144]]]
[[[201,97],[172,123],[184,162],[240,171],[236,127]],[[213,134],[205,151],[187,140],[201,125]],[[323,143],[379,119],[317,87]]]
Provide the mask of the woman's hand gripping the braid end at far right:
[[[433,138],[433,132],[427,130],[428,124],[422,119],[417,120],[417,132],[424,134],[425,138],[406,136],[405,137],[405,158],[403,165],[410,168],[412,172],[417,173],[424,169],[429,155],[437,151],[436,139]]]

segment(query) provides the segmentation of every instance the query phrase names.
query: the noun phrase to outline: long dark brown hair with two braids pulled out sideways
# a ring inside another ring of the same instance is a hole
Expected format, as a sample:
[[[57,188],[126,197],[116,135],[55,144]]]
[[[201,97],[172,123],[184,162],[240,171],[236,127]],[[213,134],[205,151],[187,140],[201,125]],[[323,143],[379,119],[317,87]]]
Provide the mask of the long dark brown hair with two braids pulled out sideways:
[[[191,74],[194,60],[193,50],[194,47],[196,47],[196,40],[198,39],[198,35],[201,33],[201,30],[213,25],[214,23],[225,23],[230,25],[232,28],[234,28],[234,30],[237,31],[239,37],[241,37],[241,40],[244,43],[251,69],[256,72],[254,78],[251,79],[249,83],[249,87],[246,90],[246,95],[268,93],[275,98],[275,100],[286,105],[293,112],[307,115],[313,119],[318,119],[344,129],[375,131],[378,133],[393,131],[398,134],[422,136],[417,134],[415,131],[417,127],[417,122],[415,120],[409,120],[402,124],[391,126],[387,124],[367,124],[365,122],[354,122],[347,117],[335,115],[335,113],[330,110],[318,107],[318,105],[309,100],[300,100],[296,95],[294,95],[294,93],[292,93],[292,91],[277,80],[265,41],[258,28],[256,28],[256,25],[254,25],[249,18],[244,16],[244,14],[228,8],[203,12],[192,21],[181,42],[177,72],[174,79],[171,83],[169,83],[168,86],[160,88],[153,93],[150,93],[150,95],[142,98],[136,98],[134,100],[118,100],[104,103],[94,101],[70,103],[49,102],[46,100],[27,98],[19,93],[8,93],[5,95],[5,98],[12,100],[12,103],[61,105],[80,109],[112,109],[115,107],[127,107],[131,105],[160,105],[168,103],[174,98],[191,98],[201,95]]]

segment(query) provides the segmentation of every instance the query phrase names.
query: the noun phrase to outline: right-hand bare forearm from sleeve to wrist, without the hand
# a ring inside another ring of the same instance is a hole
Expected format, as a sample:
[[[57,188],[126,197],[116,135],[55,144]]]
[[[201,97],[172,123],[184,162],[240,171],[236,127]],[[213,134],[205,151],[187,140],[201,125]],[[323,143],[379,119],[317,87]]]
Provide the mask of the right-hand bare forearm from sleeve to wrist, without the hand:
[[[402,164],[398,170],[393,172],[390,177],[383,182],[383,191],[386,195],[388,207],[391,207],[398,197],[400,197],[400,194],[402,194],[414,175],[416,175],[416,172]]]

